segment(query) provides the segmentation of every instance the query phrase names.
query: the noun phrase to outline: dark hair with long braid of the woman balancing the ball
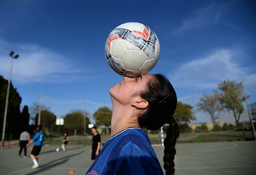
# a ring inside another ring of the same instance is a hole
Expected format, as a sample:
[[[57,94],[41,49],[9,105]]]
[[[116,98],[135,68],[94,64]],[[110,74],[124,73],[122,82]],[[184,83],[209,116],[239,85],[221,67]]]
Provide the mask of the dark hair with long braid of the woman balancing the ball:
[[[146,112],[138,117],[141,127],[148,130],[159,130],[164,124],[173,121],[172,117],[177,106],[177,96],[169,80],[161,75],[153,75],[155,78],[147,84],[146,90],[141,92],[141,97],[149,103]],[[173,121],[169,124],[164,140],[164,169],[167,175],[174,174],[175,144],[180,134],[178,124]]]

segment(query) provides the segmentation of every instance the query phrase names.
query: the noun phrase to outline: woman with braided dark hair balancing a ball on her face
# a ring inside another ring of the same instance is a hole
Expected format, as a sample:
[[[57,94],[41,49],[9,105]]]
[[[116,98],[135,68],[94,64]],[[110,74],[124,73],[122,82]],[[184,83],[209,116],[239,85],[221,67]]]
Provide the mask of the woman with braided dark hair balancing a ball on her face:
[[[174,174],[179,127],[173,117],[177,97],[168,79],[160,74],[124,77],[109,93],[111,137],[86,174],[164,174],[142,128],[158,130],[166,123],[164,169],[166,174]]]

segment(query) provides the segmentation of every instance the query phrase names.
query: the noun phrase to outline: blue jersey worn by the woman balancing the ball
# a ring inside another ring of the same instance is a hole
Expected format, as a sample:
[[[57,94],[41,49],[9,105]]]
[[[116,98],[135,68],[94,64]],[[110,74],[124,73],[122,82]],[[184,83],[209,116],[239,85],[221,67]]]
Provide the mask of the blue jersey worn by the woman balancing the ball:
[[[139,127],[110,137],[86,175],[161,174],[164,172],[148,135]]]

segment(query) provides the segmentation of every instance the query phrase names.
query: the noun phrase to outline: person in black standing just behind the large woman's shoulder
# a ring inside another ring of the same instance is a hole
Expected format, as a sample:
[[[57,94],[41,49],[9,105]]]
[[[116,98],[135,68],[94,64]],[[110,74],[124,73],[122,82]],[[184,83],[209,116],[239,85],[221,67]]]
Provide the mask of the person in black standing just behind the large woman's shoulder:
[[[92,137],[91,151],[89,154],[91,155],[91,160],[94,161],[100,152],[100,135],[97,132],[97,128],[95,126],[91,128],[91,133],[93,137]]]

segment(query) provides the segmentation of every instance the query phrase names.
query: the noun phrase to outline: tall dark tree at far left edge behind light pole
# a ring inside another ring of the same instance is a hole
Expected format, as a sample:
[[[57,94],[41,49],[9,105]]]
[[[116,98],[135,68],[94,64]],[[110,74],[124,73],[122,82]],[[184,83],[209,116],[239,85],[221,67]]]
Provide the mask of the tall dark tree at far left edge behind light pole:
[[[3,130],[5,103],[7,95],[8,81],[0,76],[0,129]],[[10,82],[8,108],[6,115],[5,133],[12,133],[14,137],[19,136],[21,97],[16,88]]]

